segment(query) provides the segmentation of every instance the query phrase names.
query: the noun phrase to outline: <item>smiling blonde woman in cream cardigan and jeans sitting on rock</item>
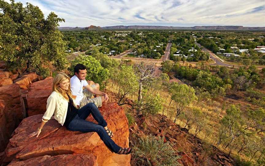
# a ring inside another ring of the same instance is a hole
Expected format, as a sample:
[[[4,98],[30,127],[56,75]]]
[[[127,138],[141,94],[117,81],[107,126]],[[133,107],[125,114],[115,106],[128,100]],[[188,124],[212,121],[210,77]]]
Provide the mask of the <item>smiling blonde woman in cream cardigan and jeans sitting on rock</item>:
[[[38,137],[46,122],[51,119],[54,114],[56,119],[62,126],[66,126],[71,131],[97,132],[99,137],[113,152],[118,154],[129,154],[131,148],[121,148],[111,139],[112,132],[108,129],[107,123],[98,111],[94,103],[89,103],[78,109],[75,104],[70,90],[70,77],[66,74],[59,73],[56,75],[52,85],[52,94],[47,100],[47,110],[42,117],[42,122],[37,131],[29,134],[29,137],[36,135]],[[89,114],[92,114],[98,124],[86,121]]]

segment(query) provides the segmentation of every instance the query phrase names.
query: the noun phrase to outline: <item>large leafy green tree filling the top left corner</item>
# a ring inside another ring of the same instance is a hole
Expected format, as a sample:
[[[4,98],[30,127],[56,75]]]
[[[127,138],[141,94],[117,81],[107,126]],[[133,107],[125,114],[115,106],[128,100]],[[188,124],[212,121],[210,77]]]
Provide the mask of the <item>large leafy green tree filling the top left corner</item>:
[[[45,19],[37,6],[0,0],[0,59],[19,73],[35,71],[48,76],[52,65],[58,70],[66,64],[65,42],[57,29],[58,18],[51,12]]]

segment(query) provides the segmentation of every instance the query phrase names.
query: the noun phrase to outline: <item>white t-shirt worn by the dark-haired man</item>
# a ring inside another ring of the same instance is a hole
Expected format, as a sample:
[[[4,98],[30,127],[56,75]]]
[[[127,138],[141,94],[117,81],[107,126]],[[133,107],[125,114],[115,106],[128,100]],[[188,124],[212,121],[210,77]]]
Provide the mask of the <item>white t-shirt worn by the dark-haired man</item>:
[[[86,82],[86,80],[79,80],[78,77],[73,76],[70,79],[70,83],[71,83],[71,92],[72,95],[76,96],[75,102],[76,105],[80,105],[80,101],[83,99],[84,95],[83,95],[83,87],[88,85],[88,83]]]

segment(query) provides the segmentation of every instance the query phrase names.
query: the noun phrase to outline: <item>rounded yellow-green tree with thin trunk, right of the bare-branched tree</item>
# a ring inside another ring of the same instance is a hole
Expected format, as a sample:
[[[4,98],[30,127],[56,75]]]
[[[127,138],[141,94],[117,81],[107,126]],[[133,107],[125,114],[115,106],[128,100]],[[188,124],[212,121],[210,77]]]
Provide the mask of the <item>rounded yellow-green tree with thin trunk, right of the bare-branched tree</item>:
[[[195,95],[195,90],[186,85],[173,83],[170,87],[171,100],[175,102],[176,106],[176,116],[174,123],[176,122],[177,117],[182,113],[184,108],[186,108],[191,102],[197,99]]]

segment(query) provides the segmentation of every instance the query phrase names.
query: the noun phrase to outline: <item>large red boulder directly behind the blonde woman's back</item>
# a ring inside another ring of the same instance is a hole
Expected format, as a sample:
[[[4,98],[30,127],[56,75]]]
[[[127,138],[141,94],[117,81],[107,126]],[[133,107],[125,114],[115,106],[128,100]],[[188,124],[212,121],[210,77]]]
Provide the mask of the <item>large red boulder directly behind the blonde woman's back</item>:
[[[52,82],[53,78],[47,77],[30,85],[27,96],[29,116],[43,114],[46,111],[47,99],[52,93]]]

